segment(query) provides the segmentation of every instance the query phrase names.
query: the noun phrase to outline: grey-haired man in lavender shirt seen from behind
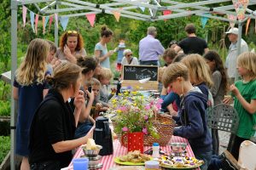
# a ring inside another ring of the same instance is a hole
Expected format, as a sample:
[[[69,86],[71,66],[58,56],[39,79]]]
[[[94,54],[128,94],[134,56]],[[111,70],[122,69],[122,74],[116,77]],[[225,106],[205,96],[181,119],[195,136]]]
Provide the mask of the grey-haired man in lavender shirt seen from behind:
[[[165,48],[158,39],[154,26],[148,27],[148,36],[139,42],[139,60],[140,65],[158,65],[158,56],[164,54]]]

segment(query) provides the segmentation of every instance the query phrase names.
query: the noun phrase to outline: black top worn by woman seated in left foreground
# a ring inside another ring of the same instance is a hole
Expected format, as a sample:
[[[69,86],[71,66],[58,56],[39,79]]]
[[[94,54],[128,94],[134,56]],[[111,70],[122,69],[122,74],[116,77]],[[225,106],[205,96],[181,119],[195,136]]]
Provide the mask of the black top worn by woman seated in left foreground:
[[[73,139],[74,131],[75,120],[68,102],[65,103],[61,94],[50,89],[32,121],[30,163],[59,161],[61,167],[67,167],[73,157],[72,151],[55,153],[51,144]]]

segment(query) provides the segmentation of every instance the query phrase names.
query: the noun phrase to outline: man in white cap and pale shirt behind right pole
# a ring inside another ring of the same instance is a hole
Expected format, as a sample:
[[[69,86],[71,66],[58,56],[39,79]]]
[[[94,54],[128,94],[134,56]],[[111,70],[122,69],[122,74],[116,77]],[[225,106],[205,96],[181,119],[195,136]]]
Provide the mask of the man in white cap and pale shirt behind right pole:
[[[230,48],[229,53],[226,58],[225,67],[228,72],[229,76],[229,82],[230,84],[233,84],[235,82],[235,78],[237,76],[236,71],[236,59],[237,59],[237,42],[238,42],[238,28],[230,28],[229,31],[225,32],[228,34],[228,37],[230,39]],[[243,39],[241,39],[241,54],[248,51],[248,45],[247,42],[245,42]]]

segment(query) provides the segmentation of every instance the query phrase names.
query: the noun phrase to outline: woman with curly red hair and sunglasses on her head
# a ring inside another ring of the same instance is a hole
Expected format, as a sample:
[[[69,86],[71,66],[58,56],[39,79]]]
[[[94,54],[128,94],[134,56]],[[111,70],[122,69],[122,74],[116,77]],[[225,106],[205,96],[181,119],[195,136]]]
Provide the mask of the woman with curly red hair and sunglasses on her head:
[[[62,34],[56,58],[77,63],[79,57],[85,57],[86,55],[84,40],[78,31],[67,31]]]

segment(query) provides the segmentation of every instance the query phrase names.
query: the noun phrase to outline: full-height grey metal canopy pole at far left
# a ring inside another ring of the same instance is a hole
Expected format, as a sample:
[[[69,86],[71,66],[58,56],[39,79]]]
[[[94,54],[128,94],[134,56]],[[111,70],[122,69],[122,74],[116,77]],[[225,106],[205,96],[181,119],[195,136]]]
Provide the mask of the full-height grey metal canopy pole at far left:
[[[15,71],[17,69],[17,10],[18,10],[18,3],[16,0],[11,0],[11,84],[14,83],[15,80]],[[12,88],[13,94],[13,88]],[[16,108],[17,103],[15,99],[11,98],[11,122],[10,122],[10,129],[11,129],[11,150],[10,150],[10,167],[11,170],[15,170],[15,130],[16,130]]]

